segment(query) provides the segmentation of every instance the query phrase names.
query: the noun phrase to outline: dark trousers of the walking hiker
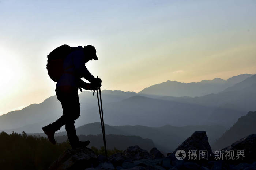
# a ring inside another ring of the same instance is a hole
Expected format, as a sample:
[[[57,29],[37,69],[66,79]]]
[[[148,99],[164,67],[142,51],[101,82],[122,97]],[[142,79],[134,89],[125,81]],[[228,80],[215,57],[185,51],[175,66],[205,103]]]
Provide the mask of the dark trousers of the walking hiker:
[[[59,90],[56,89],[57,99],[61,102],[63,115],[53,122],[56,131],[61,126],[66,125],[66,131],[69,142],[76,143],[79,141],[76,135],[75,120],[80,116],[80,103],[78,91],[76,90]]]

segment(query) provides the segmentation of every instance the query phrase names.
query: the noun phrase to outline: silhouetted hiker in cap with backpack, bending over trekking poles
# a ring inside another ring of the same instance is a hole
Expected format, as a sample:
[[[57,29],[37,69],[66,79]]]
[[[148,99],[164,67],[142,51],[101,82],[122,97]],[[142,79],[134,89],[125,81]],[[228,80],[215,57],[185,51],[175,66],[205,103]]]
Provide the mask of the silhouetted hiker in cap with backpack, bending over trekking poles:
[[[63,45],[58,47],[59,51],[63,52],[64,50],[60,49],[66,49],[66,46],[68,49],[70,48],[68,45]],[[58,51],[56,49],[55,51]],[[78,46],[71,47],[70,49],[70,53],[65,56],[63,63],[61,63],[64,72],[61,73],[60,78],[57,80],[55,90],[57,99],[61,102],[63,115],[56,120],[56,122],[50,123],[42,129],[48,136],[49,141],[55,144],[56,141],[54,139],[54,133],[59,130],[61,126],[66,125],[68,140],[74,149],[76,147],[85,147],[90,143],[90,141],[79,141],[78,136],[76,135],[74,123],[75,120],[80,116],[78,88],[82,87],[87,90],[96,90],[101,87],[101,79],[95,78],[93,75],[91,75],[85,66],[85,63],[89,62],[90,60],[98,60],[98,57],[96,56],[96,49],[93,46],[88,45],[84,48],[82,46]],[[51,53],[54,54],[54,50]],[[49,55],[51,55],[51,53]],[[50,63],[48,62],[48,64]],[[85,78],[90,83],[82,81],[81,78]]]

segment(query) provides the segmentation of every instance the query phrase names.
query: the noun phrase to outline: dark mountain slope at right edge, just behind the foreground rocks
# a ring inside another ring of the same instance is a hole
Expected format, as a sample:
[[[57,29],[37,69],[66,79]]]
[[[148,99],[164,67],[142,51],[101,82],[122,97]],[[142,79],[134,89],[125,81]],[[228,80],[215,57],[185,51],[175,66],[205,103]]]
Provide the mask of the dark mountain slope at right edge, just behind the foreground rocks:
[[[248,112],[247,115],[239,118],[237,122],[214,143],[214,147],[216,149],[222,149],[229,146],[232,141],[237,141],[250,134],[256,134],[256,111]]]

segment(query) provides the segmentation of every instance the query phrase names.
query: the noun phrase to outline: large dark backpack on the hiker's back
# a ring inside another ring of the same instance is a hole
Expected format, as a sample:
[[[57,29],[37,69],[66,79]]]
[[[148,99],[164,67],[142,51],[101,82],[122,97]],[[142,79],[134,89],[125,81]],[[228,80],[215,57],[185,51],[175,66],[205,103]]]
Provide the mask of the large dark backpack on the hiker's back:
[[[68,56],[69,53],[75,50],[75,47],[70,47],[68,45],[62,45],[60,47],[55,48],[50,54],[47,56],[47,64],[46,68],[48,71],[48,75],[50,78],[57,82],[61,75],[64,73],[63,69],[63,61]]]

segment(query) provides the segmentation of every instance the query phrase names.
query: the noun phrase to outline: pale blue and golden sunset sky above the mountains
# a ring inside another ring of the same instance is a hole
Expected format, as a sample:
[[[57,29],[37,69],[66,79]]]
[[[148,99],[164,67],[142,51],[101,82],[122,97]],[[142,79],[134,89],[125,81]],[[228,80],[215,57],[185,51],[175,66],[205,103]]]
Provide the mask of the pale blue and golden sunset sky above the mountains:
[[[254,0],[1,0],[0,115],[55,94],[46,56],[97,50],[101,89],[139,92],[167,80],[256,73]]]

